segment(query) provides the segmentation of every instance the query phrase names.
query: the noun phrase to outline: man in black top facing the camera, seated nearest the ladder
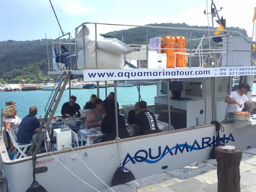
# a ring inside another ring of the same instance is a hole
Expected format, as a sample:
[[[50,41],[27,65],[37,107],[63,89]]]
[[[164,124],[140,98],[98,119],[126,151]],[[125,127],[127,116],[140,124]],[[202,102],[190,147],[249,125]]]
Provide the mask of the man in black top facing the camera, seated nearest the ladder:
[[[62,116],[71,117],[71,116],[74,116],[76,113],[78,114],[79,117],[81,116],[79,112],[79,109],[81,108],[77,103],[75,103],[76,100],[77,100],[77,97],[73,95],[69,97],[69,102],[65,102],[62,105],[62,108],[61,108]]]

